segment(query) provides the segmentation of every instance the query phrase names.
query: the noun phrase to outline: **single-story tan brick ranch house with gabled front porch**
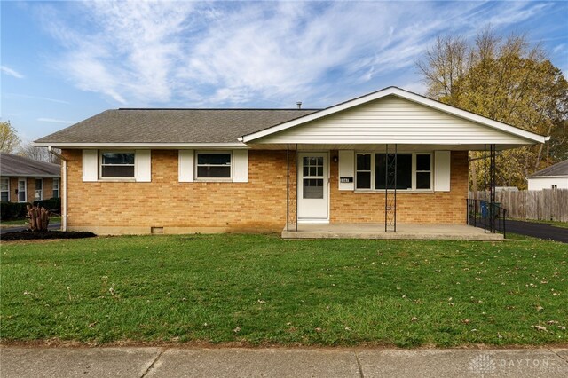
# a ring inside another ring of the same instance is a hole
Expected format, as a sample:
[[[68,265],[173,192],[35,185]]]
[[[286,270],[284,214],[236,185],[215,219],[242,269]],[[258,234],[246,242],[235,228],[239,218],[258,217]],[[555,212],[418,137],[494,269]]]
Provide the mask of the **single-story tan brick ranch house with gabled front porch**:
[[[62,149],[64,228],[141,234],[385,224],[395,187],[398,223],[465,224],[468,151],[544,141],[389,87],[322,110],[107,110],[36,146]]]

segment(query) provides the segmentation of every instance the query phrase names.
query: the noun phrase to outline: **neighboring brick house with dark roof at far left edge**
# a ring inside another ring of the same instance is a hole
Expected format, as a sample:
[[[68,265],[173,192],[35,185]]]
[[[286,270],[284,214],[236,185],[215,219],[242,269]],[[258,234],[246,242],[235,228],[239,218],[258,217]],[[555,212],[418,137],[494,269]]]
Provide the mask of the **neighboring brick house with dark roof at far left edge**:
[[[0,153],[2,201],[31,203],[59,197],[60,177],[58,164]]]

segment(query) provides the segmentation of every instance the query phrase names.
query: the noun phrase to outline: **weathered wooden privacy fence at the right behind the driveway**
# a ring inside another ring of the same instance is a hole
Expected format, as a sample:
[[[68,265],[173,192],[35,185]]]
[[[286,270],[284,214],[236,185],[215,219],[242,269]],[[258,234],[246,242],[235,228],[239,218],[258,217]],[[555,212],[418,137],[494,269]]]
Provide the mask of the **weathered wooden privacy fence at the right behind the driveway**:
[[[469,193],[469,198],[473,198],[472,194]],[[483,199],[484,193],[477,192],[477,200]],[[495,201],[507,209],[509,218],[568,222],[568,189],[499,191],[495,193]]]

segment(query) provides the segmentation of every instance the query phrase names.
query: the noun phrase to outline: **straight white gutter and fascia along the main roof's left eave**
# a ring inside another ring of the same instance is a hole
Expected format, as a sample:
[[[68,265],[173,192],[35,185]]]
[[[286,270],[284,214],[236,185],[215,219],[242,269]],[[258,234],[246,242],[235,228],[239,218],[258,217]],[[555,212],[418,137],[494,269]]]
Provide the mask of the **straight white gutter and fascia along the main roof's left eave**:
[[[248,149],[243,143],[38,143],[32,142],[32,146],[56,147],[56,148],[154,148],[154,149]]]

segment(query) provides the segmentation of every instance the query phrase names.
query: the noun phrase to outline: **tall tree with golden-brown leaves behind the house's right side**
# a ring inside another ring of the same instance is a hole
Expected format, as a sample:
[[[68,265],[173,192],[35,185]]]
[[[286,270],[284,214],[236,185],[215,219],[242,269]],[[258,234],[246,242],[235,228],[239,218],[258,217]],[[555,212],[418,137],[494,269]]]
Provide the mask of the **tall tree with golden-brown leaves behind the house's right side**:
[[[503,38],[485,28],[473,43],[440,37],[418,67],[431,98],[551,137],[547,146],[503,151],[498,185],[524,188],[527,175],[568,158],[568,83],[525,35]],[[481,182],[481,164],[472,162],[474,187]]]

